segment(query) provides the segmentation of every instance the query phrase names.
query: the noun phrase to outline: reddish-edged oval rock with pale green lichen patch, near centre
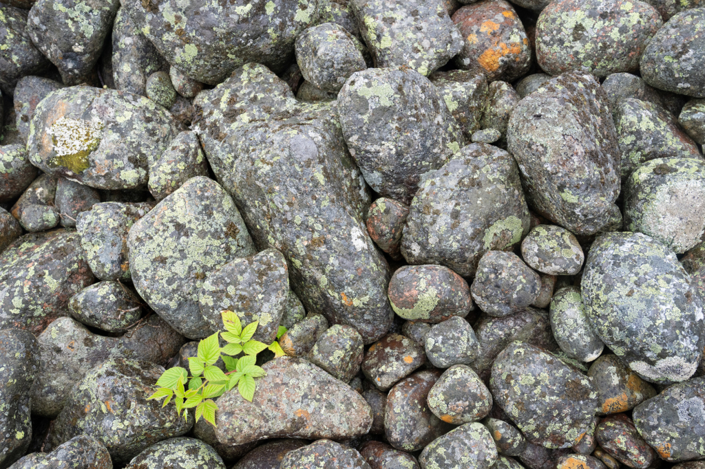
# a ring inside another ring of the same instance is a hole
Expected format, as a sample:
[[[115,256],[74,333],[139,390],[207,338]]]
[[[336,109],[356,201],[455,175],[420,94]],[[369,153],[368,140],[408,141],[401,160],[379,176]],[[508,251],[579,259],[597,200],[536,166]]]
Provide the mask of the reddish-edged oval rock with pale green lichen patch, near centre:
[[[389,281],[389,303],[401,318],[441,323],[451,316],[465,318],[474,306],[470,287],[443,265],[405,265]]]

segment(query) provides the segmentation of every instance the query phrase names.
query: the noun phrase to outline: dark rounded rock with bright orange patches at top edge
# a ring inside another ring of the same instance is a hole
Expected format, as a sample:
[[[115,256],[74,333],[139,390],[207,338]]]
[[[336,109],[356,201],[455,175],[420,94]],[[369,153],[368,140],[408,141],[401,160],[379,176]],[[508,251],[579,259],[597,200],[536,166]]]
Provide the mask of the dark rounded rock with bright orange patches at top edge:
[[[490,82],[511,82],[529,71],[531,46],[513,6],[504,0],[483,0],[453,14],[464,44],[455,56],[463,70],[484,73]]]

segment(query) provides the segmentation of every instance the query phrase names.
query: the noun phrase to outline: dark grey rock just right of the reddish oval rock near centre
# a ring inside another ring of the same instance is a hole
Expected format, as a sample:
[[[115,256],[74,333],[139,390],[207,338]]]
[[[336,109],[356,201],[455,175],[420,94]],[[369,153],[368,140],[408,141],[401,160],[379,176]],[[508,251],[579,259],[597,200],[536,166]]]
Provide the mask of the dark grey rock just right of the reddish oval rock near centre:
[[[482,311],[493,316],[517,313],[539,297],[541,277],[512,252],[487,251],[480,258],[470,291]]]

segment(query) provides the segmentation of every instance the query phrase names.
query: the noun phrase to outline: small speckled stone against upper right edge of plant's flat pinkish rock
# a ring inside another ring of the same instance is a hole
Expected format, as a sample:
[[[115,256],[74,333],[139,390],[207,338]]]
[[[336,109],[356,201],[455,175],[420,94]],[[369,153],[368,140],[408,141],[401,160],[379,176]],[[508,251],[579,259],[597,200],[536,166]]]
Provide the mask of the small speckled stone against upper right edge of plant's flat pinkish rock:
[[[308,360],[343,382],[360,371],[364,354],[362,337],[354,327],[335,324],[316,341]]]

